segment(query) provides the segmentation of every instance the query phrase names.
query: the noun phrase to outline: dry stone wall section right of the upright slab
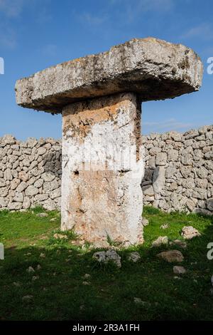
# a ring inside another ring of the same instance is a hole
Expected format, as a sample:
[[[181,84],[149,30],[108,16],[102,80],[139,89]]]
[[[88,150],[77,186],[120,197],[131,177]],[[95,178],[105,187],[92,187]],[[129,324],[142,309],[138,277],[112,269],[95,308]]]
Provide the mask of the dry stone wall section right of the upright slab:
[[[213,212],[213,125],[143,136],[143,201],[167,212]]]

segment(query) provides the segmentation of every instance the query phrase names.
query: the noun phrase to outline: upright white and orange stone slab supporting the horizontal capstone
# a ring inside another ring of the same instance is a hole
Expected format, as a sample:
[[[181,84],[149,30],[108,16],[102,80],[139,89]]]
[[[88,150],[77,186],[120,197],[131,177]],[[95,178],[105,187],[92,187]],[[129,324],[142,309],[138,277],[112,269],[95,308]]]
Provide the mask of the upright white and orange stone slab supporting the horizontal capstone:
[[[94,244],[143,241],[141,104],[133,93],[64,108],[62,230]]]

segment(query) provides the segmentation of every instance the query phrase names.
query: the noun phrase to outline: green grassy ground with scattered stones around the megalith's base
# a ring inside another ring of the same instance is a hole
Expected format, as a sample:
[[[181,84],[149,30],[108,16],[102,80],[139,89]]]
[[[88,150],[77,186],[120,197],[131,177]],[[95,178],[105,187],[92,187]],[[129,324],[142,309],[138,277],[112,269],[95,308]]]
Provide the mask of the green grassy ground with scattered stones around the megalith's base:
[[[143,216],[150,222],[146,242],[119,250],[122,267],[116,269],[111,264],[100,267],[92,260],[94,250],[72,244],[73,232],[67,240],[53,238],[60,215],[48,212],[48,217],[37,217],[41,211],[0,212],[0,242],[5,247],[5,259],[0,260],[0,319],[213,320],[213,260],[207,259],[207,244],[213,242],[210,217],[169,215],[146,207]],[[160,229],[165,223],[169,228]],[[151,243],[165,235],[181,239],[185,225],[197,228],[202,236],[180,249],[187,273],[177,279],[175,264],[156,257],[166,247],[151,248]],[[141,254],[139,262],[127,260],[130,250]],[[28,267],[35,272],[28,273]],[[90,277],[85,279],[85,274]],[[23,299],[26,296],[30,297]],[[134,297],[143,302],[136,304]]]

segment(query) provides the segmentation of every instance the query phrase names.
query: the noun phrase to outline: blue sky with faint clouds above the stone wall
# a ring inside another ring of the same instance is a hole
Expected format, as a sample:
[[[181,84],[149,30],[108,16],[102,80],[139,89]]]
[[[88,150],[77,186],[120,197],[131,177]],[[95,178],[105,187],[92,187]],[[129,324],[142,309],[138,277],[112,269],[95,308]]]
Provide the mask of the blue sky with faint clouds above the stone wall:
[[[198,93],[143,103],[143,133],[185,131],[212,124],[211,0],[0,0],[0,136],[61,136],[61,115],[16,105],[18,78],[63,61],[107,51],[131,38],[153,36],[193,48],[204,63]]]

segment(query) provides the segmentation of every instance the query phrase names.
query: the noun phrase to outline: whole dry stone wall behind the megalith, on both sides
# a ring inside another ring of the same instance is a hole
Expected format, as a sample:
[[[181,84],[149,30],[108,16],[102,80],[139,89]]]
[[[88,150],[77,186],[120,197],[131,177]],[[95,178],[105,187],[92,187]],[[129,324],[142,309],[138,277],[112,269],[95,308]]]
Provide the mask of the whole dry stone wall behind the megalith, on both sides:
[[[143,203],[167,212],[213,213],[213,125],[142,136]],[[0,138],[0,209],[60,209],[61,140]]]

